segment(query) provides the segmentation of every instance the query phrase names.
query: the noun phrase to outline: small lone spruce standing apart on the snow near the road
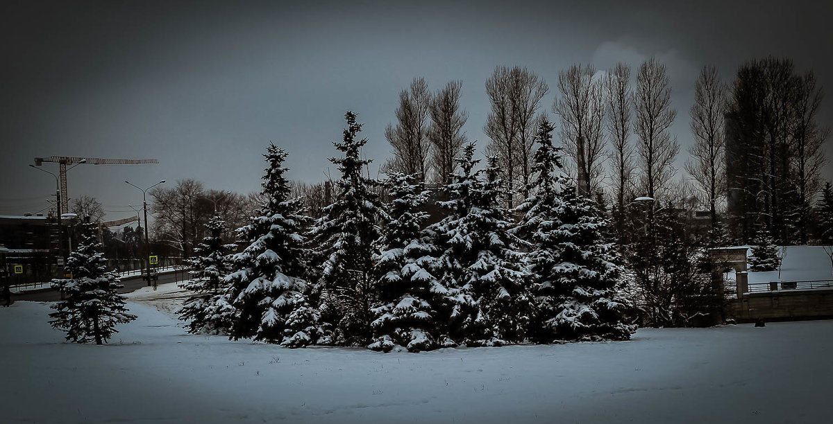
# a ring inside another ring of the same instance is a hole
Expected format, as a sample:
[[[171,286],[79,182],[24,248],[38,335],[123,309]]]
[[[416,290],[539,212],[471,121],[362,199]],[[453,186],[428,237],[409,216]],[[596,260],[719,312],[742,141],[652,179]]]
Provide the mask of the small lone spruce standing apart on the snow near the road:
[[[115,272],[105,269],[102,244],[95,239],[97,224],[89,218],[81,225],[82,231],[75,251],[67,259],[67,271],[72,279],[54,279],[52,288],[62,293],[63,300],[52,305],[52,328],[67,333],[67,340],[96,344],[107,342],[116,325],[129,323],[136,315],[127,313],[122,288]]]

